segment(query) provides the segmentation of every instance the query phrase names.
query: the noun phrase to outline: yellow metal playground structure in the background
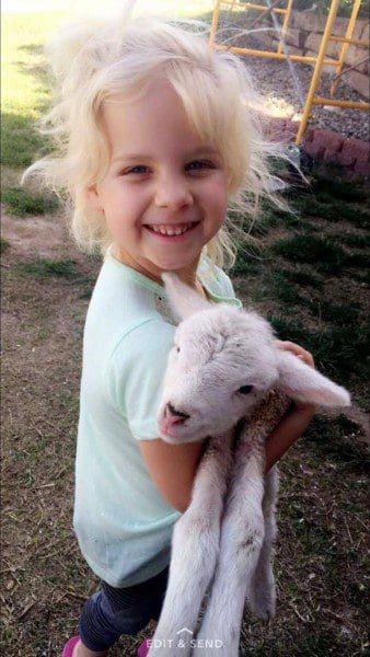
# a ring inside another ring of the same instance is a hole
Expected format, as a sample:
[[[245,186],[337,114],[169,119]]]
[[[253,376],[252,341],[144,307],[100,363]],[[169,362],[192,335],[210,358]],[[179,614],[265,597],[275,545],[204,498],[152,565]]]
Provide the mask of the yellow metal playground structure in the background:
[[[273,1],[266,0],[265,5],[255,4],[253,2],[244,2],[242,0],[216,0],[216,3],[215,3],[210,39],[209,39],[209,44],[212,48],[220,49],[220,50],[231,50],[231,51],[233,51],[238,55],[242,55],[242,56],[265,57],[265,58],[281,59],[281,60],[287,61],[293,84],[296,87],[297,94],[300,100],[300,104],[302,107],[302,119],[300,122],[300,126],[299,126],[299,129],[298,129],[298,132],[296,136],[297,146],[299,146],[302,141],[313,105],[332,105],[332,106],[336,106],[336,107],[361,110],[361,111],[366,111],[366,112],[369,112],[369,110],[370,110],[370,103],[365,103],[365,102],[358,103],[355,101],[344,101],[340,99],[333,97],[334,94],[336,93],[340,76],[343,74],[343,68],[344,68],[346,54],[347,54],[349,46],[354,45],[354,46],[365,46],[367,48],[370,47],[369,42],[358,41],[358,39],[352,38],[352,33],[354,33],[357,15],[358,15],[358,12],[360,9],[361,0],[354,0],[352,10],[351,10],[350,16],[348,19],[348,25],[347,25],[345,35],[344,36],[334,36],[332,34],[332,28],[333,28],[334,21],[335,21],[335,18],[336,18],[336,14],[338,11],[338,7],[339,7],[339,1],[340,0],[332,0],[331,9],[327,14],[324,33],[323,33],[323,36],[321,39],[321,44],[320,44],[320,48],[319,48],[319,53],[317,53],[316,57],[308,57],[304,55],[291,55],[289,53],[289,47],[286,44],[285,37],[287,35],[287,31],[289,27],[289,19],[290,19],[290,14],[291,14],[291,10],[292,10],[293,0],[288,0],[287,5],[285,8],[278,7],[278,4],[280,3],[280,0],[273,0]],[[274,50],[256,50],[256,49],[252,49],[252,48],[241,48],[241,47],[236,47],[236,46],[224,46],[221,44],[217,44],[217,42],[216,42],[217,27],[218,27],[220,11],[222,9],[222,5],[226,5],[230,11],[233,11],[236,9],[239,11],[244,11],[244,10],[251,9],[251,10],[261,12],[261,15],[255,21],[253,21],[250,28],[252,28],[252,26],[254,26],[261,19],[270,14],[273,24],[274,24],[274,28],[279,38],[277,50],[276,51],[274,51]],[[281,25],[277,18],[278,14],[284,16]],[[333,59],[331,57],[326,57],[326,50],[327,50],[327,45],[328,45],[329,41],[334,41],[334,42],[343,44],[338,59]],[[314,65],[310,89],[309,89],[309,92],[308,92],[305,99],[304,99],[304,94],[301,89],[299,78],[294,70],[294,66],[293,66],[294,61],[301,61],[304,64]],[[331,87],[331,97],[321,97],[321,96],[315,95],[324,65],[335,67],[335,77],[334,77],[334,81]]]

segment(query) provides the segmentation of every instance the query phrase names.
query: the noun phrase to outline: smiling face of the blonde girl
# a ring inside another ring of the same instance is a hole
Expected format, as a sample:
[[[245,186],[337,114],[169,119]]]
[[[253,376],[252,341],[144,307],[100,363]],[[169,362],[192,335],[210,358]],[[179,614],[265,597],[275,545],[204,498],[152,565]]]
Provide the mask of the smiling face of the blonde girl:
[[[190,129],[165,81],[153,82],[146,96],[130,104],[119,97],[105,103],[102,117],[111,161],[88,198],[104,211],[117,255],[158,280],[164,270],[194,280],[200,251],[226,215],[220,154]],[[157,232],[180,229],[186,231]]]

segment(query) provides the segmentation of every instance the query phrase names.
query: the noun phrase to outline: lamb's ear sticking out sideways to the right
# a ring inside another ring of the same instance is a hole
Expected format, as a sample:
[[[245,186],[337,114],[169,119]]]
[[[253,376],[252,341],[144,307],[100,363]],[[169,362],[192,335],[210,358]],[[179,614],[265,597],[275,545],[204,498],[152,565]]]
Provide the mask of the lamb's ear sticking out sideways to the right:
[[[300,402],[322,406],[350,406],[350,396],[345,388],[333,383],[290,351],[276,350],[279,370],[277,385],[282,392]]]

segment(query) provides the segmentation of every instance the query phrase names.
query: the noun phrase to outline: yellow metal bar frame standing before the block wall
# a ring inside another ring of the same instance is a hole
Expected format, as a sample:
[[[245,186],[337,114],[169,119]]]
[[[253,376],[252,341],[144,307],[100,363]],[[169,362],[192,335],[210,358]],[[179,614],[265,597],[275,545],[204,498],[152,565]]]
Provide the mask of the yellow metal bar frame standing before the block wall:
[[[286,36],[286,33],[288,30],[289,19],[290,19],[291,9],[292,9],[292,2],[293,2],[293,0],[288,0],[287,7],[285,9],[271,8],[271,10],[270,10],[270,11],[275,11],[276,13],[282,14],[285,16],[282,26],[281,26],[282,37]],[[218,26],[218,22],[219,22],[221,4],[230,5],[231,10],[234,10],[238,7],[241,10],[254,9],[257,11],[266,12],[266,9],[268,9],[268,7],[266,7],[266,5],[263,7],[261,4],[254,4],[252,2],[240,3],[240,2],[238,2],[238,0],[216,0],[213,14],[212,14],[210,37],[209,37],[209,45],[212,48],[218,49],[218,50],[231,50],[232,53],[235,53],[236,55],[243,55],[243,56],[265,57],[265,58],[269,58],[269,59],[287,59],[287,56],[285,55],[285,53],[281,51],[281,49],[282,49],[281,41],[278,44],[278,49],[276,53],[274,50],[255,50],[252,48],[239,48],[239,47],[234,47],[234,46],[221,46],[220,44],[217,44],[216,43],[216,33],[217,33],[217,26]],[[311,114],[312,105],[333,105],[336,107],[346,107],[346,108],[363,110],[363,111],[370,110],[370,103],[356,103],[352,101],[340,101],[340,100],[335,100],[335,99],[325,99],[325,97],[315,96],[315,91],[316,91],[319,82],[320,82],[320,78],[321,78],[321,73],[322,73],[324,64],[336,67],[336,71],[335,71],[336,77],[335,77],[335,80],[331,88],[331,94],[334,95],[334,93],[337,90],[339,77],[343,71],[343,66],[345,62],[348,47],[350,45],[354,45],[354,46],[365,46],[365,47],[369,48],[369,46],[370,46],[370,44],[368,42],[351,38],[354,28],[355,28],[355,24],[356,24],[356,20],[357,20],[357,15],[358,15],[358,12],[360,9],[360,4],[361,4],[361,0],[355,0],[354,8],[352,8],[352,11],[351,11],[351,14],[349,18],[346,35],[345,36],[334,36],[334,35],[332,35],[332,27],[333,27],[333,24],[334,24],[334,21],[335,21],[337,11],[338,11],[339,0],[332,0],[331,9],[329,9],[329,12],[327,15],[325,30],[324,30],[324,34],[323,34],[323,37],[322,37],[322,41],[320,44],[317,57],[308,57],[308,56],[303,56],[303,55],[290,55],[290,59],[292,61],[302,61],[305,64],[314,64],[315,65],[313,74],[312,74],[312,79],[311,79],[309,93],[308,93],[307,100],[305,100],[305,105],[304,105],[304,110],[303,110],[303,114],[302,114],[302,120],[300,123],[300,126],[299,126],[299,129],[297,132],[297,137],[296,137],[297,145],[299,145],[302,141],[302,138],[303,138],[303,135],[305,132],[307,125],[309,122],[309,117]],[[343,43],[340,55],[339,55],[338,59],[333,59],[333,58],[326,57],[327,44],[329,41]]]

